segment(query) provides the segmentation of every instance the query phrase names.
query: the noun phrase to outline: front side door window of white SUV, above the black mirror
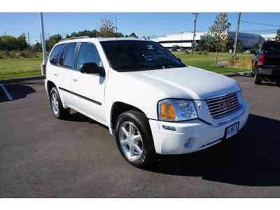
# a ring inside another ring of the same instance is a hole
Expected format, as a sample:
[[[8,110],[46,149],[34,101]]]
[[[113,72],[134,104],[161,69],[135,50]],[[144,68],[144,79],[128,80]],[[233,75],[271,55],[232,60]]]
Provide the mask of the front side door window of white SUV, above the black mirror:
[[[85,63],[95,63],[97,66],[101,66],[101,59],[97,48],[93,43],[80,43],[77,69],[80,69],[80,67]]]

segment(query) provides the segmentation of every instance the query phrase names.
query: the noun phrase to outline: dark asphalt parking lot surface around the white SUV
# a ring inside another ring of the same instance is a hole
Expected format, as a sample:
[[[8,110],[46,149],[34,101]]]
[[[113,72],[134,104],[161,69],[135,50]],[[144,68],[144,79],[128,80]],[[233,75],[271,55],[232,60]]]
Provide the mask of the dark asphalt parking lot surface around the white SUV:
[[[250,103],[239,134],[137,169],[109,130],[52,116],[43,80],[0,88],[0,197],[280,197],[280,87],[234,77]]]

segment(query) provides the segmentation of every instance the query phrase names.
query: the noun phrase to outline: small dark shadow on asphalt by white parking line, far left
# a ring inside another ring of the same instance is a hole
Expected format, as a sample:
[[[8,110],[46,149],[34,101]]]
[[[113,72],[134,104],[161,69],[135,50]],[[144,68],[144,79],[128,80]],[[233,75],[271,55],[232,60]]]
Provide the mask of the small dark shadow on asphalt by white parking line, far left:
[[[4,86],[9,92],[10,96],[13,98],[13,101],[27,97],[27,94],[36,92],[32,87],[29,86],[29,83],[5,83]],[[3,92],[0,87],[0,102],[8,102],[9,99]]]

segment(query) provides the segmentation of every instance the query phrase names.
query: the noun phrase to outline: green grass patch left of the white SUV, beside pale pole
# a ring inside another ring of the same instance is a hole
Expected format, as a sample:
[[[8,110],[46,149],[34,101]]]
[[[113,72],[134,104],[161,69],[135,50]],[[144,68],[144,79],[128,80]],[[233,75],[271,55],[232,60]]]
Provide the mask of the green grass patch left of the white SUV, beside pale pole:
[[[0,80],[41,75],[41,57],[0,59]]]

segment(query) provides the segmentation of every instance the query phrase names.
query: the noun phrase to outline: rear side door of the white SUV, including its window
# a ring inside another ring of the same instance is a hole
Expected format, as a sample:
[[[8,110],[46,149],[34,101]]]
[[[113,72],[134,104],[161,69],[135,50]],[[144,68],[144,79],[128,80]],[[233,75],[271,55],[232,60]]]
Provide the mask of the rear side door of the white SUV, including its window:
[[[59,71],[57,71],[57,80],[59,94],[64,104],[71,105],[71,76],[75,64],[76,42],[67,43],[59,59]]]

